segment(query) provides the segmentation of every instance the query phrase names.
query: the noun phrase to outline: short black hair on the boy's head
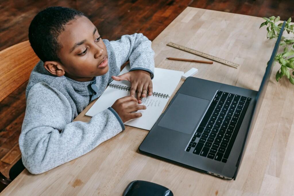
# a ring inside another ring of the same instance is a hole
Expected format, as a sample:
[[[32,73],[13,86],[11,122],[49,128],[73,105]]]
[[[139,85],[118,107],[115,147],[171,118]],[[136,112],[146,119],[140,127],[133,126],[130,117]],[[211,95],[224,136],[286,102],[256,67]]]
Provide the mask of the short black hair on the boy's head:
[[[81,11],[66,7],[48,7],[40,11],[29,26],[29,41],[36,55],[43,61],[60,61],[58,51],[62,47],[58,36],[66,23],[76,16],[85,16]]]

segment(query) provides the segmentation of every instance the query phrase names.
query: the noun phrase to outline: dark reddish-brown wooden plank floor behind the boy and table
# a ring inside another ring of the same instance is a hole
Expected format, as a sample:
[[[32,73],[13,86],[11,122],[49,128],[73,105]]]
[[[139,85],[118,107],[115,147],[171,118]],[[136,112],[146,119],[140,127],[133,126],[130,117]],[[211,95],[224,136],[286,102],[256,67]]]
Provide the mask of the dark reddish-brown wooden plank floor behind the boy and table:
[[[109,40],[136,32],[153,40],[187,6],[259,17],[274,15],[280,16],[281,20],[292,17],[294,20],[292,0],[0,0],[0,50],[28,40],[31,20],[47,6],[66,6],[83,11],[103,38]],[[0,171],[6,176],[20,158],[18,138],[26,108],[26,85],[24,83],[0,102]]]

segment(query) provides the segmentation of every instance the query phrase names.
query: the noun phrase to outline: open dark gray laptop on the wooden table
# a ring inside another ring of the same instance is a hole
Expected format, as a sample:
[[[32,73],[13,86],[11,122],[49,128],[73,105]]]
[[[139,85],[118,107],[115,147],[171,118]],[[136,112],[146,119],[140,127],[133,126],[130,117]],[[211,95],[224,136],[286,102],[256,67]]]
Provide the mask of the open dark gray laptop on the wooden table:
[[[282,32],[258,91],[188,77],[139,146],[141,153],[234,179],[269,82]]]

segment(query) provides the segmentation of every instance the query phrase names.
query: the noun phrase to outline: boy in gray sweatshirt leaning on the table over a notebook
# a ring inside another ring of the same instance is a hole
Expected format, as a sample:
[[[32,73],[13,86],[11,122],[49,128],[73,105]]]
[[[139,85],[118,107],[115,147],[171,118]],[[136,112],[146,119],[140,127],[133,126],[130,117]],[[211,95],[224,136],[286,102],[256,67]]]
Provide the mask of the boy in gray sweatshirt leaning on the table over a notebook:
[[[29,41],[41,61],[26,89],[26,114],[19,137],[24,166],[46,172],[88,153],[141,117],[141,97],[152,93],[154,52],[143,34],[120,40],[101,38],[83,13],[64,7],[39,12],[29,27]],[[130,60],[131,70],[120,67]],[[120,98],[89,123],[73,119],[114,80],[131,82],[130,95]],[[137,91],[137,98],[135,93]]]

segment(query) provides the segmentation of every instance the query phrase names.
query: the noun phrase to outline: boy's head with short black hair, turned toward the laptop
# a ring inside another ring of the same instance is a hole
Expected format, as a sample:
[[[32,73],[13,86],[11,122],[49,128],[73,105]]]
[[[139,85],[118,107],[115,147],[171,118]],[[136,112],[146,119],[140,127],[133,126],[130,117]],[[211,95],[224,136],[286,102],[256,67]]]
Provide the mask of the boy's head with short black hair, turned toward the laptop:
[[[108,71],[108,56],[98,30],[80,11],[49,7],[29,26],[29,41],[44,67],[56,76],[88,81]]]

